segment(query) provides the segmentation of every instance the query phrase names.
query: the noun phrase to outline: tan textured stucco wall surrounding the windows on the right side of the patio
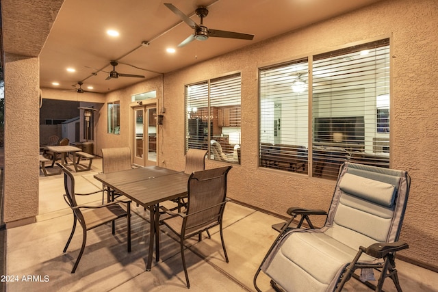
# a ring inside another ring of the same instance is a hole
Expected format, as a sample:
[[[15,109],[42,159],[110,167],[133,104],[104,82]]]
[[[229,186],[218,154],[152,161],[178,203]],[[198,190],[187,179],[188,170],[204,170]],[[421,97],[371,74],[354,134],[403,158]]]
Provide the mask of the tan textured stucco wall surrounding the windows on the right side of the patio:
[[[159,127],[162,155],[158,163],[175,170],[184,168],[184,85],[240,71],[242,164],[233,165],[229,174],[229,197],[281,215],[285,215],[287,207],[291,206],[328,209],[334,182],[257,167],[257,70],[261,66],[389,37],[391,168],[408,170],[412,176],[411,194],[401,234],[401,239],[407,241],[410,248],[400,254],[437,269],[438,255],[434,252],[438,239],[438,220],[435,216],[438,207],[438,200],[435,199],[438,185],[438,157],[435,150],[438,140],[436,27],[437,1],[381,1],[166,74],[162,103],[166,113],[164,125]],[[123,100],[138,92],[140,90],[137,88],[114,92],[111,99]],[[122,95],[124,97],[120,97]],[[162,101],[161,97],[159,99]],[[122,127],[122,131],[129,131],[128,124]],[[113,146],[115,140],[107,137],[101,140],[105,143],[100,146]],[[120,145],[124,143],[125,138]],[[206,166],[214,168],[220,166],[220,162],[207,161]],[[323,224],[323,221],[320,220],[318,224]]]

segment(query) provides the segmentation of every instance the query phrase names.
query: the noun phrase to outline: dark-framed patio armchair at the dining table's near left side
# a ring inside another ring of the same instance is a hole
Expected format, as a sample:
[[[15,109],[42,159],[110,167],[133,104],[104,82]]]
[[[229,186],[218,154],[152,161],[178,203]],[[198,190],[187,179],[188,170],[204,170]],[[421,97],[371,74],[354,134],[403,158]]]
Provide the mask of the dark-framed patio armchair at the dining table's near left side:
[[[131,201],[115,201],[97,206],[78,205],[76,196],[88,196],[99,193],[102,190],[93,191],[92,193],[88,194],[75,193],[75,178],[73,174],[61,163],[56,164],[60,166],[64,172],[64,189],[66,191],[66,194],[64,194],[64,200],[73,211],[73,228],[63,252],[67,251],[68,245],[70,244],[71,239],[73,239],[77,222],[79,222],[83,231],[81,250],[79,251],[75,265],[73,265],[73,269],[71,270],[72,274],[75,273],[77,265],[79,265],[79,261],[81,260],[83,250],[85,250],[87,231],[112,222],[112,234],[115,235],[115,220],[121,217],[126,217],[127,219],[127,249],[128,252],[131,252]],[[126,210],[123,209],[119,203],[125,204]]]

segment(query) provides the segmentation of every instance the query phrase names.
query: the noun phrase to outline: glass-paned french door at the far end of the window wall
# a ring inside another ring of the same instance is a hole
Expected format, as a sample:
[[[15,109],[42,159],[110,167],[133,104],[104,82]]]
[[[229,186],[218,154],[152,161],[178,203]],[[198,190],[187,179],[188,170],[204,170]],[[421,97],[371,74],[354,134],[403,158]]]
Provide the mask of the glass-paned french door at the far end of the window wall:
[[[157,106],[133,108],[133,163],[157,165]]]

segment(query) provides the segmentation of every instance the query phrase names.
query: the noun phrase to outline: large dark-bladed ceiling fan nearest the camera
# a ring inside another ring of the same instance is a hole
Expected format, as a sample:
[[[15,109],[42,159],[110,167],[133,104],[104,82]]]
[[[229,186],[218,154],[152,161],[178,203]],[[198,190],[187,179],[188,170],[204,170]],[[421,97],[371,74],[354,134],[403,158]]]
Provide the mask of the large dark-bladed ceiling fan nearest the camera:
[[[167,8],[169,8],[173,13],[177,14],[179,18],[181,18],[185,23],[187,23],[192,29],[194,29],[194,34],[191,34],[188,38],[183,40],[178,47],[184,47],[186,44],[194,41],[194,40],[207,40],[209,37],[211,38],[237,38],[240,40],[253,40],[253,34],[241,34],[233,31],[223,31],[218,29],[208,29],[203,25],[203,19],[208,14],[208,10],[205,7],[199,7],[195,10],[196,15],[201,18],[201,24],[198,25],[189,16],[185,15],[181,10],[176,8],[174,5],[170,3],[164,3]]]

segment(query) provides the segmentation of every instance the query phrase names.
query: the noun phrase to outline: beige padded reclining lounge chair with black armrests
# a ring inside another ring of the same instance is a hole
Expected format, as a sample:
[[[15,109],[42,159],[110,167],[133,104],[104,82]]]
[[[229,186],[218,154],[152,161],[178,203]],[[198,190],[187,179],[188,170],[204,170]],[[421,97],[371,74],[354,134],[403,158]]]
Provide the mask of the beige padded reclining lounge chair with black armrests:
[[[381,291],[389,277],[402,291],[395,257],[398,250],[409,248],[398,238],[410,184],[404,171],[344,163],[328,213],[287,210],[292,217],[255,274],[257,291],[260,271],[272,279],[274,289],[283,291],[341,291],[351,277],[375,291]],[[300,221],[292,228],[289,225],[298,215]],[[324,226],[313,228],[310,215],[326,215]],[[305,221],[309,228],[300,228]],[[356,269],[362,269],[361,277]],[[381,271],[377,284],[370,282],[374,271]]]

